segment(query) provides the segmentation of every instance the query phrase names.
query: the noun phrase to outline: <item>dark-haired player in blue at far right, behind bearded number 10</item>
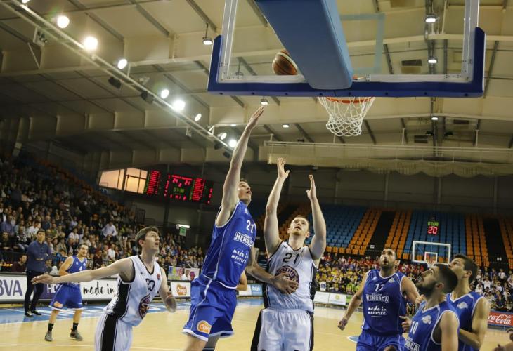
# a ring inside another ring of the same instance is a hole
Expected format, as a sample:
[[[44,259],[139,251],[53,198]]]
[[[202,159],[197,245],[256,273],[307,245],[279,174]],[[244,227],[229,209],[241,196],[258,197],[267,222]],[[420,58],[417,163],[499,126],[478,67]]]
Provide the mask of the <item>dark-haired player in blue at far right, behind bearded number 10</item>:
[[[488,329],[490,303],[480,293],[470,291],[470,284],[477,274],[477,265],[465,255],[455,255],[449,267],[457,276],[457,286],[448,293],[451,303],[460,319],[460,351],[479,350]]]

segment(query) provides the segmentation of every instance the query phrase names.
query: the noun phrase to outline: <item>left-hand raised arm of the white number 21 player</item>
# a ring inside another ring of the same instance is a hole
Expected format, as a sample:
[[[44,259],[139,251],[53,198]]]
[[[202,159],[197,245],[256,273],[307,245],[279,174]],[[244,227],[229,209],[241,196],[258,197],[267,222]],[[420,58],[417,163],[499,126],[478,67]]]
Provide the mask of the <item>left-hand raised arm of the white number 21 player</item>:
[[[278,246],[280,245],[280,234],[278,233],[278,202],[280,201],[280,193],[283,188],[283,183],[289,176],[289,171],[285,172],[285,160],[281,157],[276,162],[278,167],[278,177],[274,182],[273,190],[269,194],[266,206],[266,220],[264,221],[264,239],[266,241],[266,250],[269,256],[271,256]]]

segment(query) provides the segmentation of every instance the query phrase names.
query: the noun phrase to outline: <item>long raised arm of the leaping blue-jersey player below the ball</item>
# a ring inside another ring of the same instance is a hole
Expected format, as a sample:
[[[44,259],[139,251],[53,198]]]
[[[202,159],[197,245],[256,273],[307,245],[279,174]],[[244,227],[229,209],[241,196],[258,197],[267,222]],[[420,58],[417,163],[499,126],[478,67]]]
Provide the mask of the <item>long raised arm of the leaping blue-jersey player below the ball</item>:
[[[247,150],[247,142],[249,141],[249,135],[253,131],[254,127],[257,126],[257,122],[264,107],[260,107],[247,122],[246,128],[240,135],[240,139],[233,150],[232,159],[230,161],[230,169],[226,174],[223,185],[223,199],[221,200],[221,211],[217,214],[216,225],[221,227],[230,219],[230,216],[237,206],[239,201],[238,187],[240,181],[240,168],[242,168],[242,161]]]

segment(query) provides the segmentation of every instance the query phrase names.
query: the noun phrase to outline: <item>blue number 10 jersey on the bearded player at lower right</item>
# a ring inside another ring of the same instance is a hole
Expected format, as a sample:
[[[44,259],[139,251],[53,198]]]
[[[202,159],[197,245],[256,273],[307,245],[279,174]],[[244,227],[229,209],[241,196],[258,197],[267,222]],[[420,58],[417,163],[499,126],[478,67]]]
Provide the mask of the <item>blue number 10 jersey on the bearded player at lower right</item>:
[[[439,324],[444,313],[454,313],[453,305],[447,301],[424,310],[426,302],[420,304],[417,314],[412,319],[410,332],[405,340],[404,350],[410,351],[439,351],[441,343],[436,343],[433,338],[434,329]],[[459,328],[458,328],[459,330]],[[441,342],[441,340],[440,340]]]

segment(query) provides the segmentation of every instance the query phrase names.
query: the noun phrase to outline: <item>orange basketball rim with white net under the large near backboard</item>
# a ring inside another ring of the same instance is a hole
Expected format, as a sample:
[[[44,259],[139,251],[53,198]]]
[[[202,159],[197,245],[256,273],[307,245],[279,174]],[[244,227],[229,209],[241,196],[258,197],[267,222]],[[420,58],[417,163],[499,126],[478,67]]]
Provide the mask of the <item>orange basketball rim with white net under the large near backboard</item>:
[[[337,136],[362,133],[363,118],[376,98],[319,98],[330,116],[326,128]]]

